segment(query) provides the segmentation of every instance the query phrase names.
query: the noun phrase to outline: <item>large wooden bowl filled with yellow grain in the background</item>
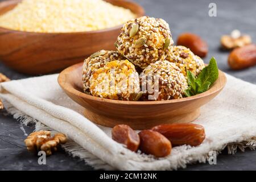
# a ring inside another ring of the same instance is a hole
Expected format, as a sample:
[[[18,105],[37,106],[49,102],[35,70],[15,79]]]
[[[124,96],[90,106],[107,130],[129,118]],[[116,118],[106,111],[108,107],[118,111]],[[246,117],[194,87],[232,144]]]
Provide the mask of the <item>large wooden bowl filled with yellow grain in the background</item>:
[[[105,0],[143,16],[137,3]],[[20,0],[0,3],[0,15],[13,9]],[[60,71],[83,61],[100,50],[114,50],[122,25],[98,31],[73,33],[33,33],[0,27],[0,60],[18,72],[39,75]]]

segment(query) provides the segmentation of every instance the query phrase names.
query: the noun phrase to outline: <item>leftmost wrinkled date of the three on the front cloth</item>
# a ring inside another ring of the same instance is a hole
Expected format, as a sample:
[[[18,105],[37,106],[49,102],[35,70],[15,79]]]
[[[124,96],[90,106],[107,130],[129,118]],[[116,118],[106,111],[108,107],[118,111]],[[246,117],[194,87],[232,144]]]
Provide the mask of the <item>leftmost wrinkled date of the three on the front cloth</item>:
[[[139,135],[128,125],[116,125],[112,129],[112,139],[136,152],[139,148]]]

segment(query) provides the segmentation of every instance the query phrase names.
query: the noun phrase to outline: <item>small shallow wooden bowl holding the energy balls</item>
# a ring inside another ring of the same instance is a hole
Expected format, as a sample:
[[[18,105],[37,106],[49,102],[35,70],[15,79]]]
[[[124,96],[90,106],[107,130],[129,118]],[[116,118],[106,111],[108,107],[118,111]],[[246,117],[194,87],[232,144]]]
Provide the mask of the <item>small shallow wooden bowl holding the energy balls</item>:
[[[226,77],[219,71],[218,80],[207,92],[168,101],[117,101],[85,94],[82,91],[82,63],[62,71],[58,82],[73,101],[85,108],[84,115],[90,121],[108,127],[126,124],[141,130],[163,123],[195,120],[200,115],[200,107],[224,88]]]

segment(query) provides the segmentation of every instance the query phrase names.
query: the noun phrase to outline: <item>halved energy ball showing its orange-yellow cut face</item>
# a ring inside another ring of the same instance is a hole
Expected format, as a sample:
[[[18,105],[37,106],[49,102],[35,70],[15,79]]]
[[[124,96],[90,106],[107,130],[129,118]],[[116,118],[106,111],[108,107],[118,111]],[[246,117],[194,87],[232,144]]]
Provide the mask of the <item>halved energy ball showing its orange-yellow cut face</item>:
[[[139,75],[128,60],[110,61],[90,77],[93,96],[130,101],[140,90]]]

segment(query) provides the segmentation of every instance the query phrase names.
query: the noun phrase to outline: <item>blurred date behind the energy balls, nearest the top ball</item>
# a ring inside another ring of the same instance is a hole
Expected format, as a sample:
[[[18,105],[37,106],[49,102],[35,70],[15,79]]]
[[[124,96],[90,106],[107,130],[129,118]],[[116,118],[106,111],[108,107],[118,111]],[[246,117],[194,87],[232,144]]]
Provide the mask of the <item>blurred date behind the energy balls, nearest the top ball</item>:
[[[207,43],[200,36],[191,33],[179,35],[177,46],[185,46],[199,57],[205,57],[208,53]]]

